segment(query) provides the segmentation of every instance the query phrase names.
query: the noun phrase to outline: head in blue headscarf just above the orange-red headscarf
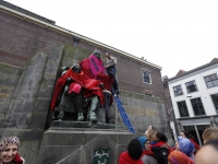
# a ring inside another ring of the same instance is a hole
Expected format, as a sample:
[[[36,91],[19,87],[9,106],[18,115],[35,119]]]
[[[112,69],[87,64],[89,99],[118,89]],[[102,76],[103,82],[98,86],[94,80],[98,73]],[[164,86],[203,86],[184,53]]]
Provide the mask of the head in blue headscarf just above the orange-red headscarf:
[[[178,142],[175,143],[175,150],[183,152],[187,156],[191,156],[194,151],[194,144],[186,138],[178,137]]]

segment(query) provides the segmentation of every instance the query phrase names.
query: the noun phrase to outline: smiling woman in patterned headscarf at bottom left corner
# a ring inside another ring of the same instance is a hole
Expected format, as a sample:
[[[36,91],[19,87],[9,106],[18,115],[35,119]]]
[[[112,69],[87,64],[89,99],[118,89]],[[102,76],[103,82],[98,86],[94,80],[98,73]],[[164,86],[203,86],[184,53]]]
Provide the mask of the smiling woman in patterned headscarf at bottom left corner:
[[[0,164],[24,164],[19,155],[20,140],[17,137],[7,137],[0,143]]]

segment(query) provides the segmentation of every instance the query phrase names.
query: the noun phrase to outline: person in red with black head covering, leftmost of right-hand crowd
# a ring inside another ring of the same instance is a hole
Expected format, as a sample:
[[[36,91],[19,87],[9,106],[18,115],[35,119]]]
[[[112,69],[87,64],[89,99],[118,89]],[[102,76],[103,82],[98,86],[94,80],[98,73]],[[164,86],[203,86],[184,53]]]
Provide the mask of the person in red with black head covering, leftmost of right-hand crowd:
[[[144,164],[141,160],[142,153],[141,142],[133,139],[128,145],[128,151],[120,154],[118,164]]]

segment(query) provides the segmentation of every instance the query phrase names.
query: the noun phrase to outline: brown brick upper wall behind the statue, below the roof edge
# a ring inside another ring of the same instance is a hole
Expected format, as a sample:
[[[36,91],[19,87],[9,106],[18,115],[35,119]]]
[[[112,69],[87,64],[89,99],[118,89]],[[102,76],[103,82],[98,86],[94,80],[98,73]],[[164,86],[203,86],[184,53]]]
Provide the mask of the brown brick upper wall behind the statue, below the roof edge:
[[[3,63],[24,67],[26,62],[39,50],[50,51],[56,43],[74,45],[73,37],[53,32],[0,11],[0,61]],[[80,40],[77,47],[93,51],[107,49]],[[121,90],[144,93],[150,90],[156,96],[164,97],[160,70],[132,60],[123,55],[113,54],[118,58],[118,80]],[[89,54],[87,54],[89,56]],[[153,84],[143,82],[143,70],[150,71]]]

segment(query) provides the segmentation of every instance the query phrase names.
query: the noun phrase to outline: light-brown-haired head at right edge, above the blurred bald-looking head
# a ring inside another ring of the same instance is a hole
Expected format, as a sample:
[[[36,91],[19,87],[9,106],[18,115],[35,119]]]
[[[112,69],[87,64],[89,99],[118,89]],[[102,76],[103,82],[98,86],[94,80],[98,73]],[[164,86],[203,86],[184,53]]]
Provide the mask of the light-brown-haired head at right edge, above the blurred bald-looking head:
[[[218,128],[210,127],[205,129],[205,131],[202,134],[202,138],[204,140],[204,144],[207,143],[209,140],[218,139]]]

